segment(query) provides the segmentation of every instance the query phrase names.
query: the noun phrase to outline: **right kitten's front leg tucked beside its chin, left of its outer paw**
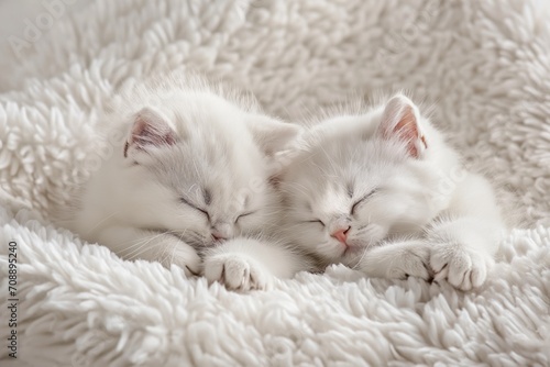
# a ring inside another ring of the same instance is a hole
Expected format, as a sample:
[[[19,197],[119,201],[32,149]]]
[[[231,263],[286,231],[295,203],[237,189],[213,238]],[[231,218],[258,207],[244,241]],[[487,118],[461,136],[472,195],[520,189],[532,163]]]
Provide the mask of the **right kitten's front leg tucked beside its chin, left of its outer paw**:
[[[411,276],[429,280],[429,245],[424,241],[389,242],[366,251],[358,268],[369,277],[406,279]]]

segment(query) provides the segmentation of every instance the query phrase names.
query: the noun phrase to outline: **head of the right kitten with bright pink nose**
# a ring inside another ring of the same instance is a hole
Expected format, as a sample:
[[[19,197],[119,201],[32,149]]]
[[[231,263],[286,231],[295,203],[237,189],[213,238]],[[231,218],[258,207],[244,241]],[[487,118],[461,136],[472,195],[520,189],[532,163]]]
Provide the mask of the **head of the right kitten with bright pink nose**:
[[[444,203],[442,162],[454,162],[418,108],[397,94],[364,114],[326,120],[279,177],[288,241],[327,263],[353,266],[391,235],[413,234]]]

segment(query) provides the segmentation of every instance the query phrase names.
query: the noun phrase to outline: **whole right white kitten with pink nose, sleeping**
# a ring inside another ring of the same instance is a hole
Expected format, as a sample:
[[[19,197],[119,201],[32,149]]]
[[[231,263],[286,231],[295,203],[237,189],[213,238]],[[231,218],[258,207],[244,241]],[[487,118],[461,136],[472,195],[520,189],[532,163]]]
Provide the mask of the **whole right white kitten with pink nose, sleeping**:
[[[280,177],[285,238],[373,277],[480,287],[504,225],[490,184],[406,97],[312,126]]]

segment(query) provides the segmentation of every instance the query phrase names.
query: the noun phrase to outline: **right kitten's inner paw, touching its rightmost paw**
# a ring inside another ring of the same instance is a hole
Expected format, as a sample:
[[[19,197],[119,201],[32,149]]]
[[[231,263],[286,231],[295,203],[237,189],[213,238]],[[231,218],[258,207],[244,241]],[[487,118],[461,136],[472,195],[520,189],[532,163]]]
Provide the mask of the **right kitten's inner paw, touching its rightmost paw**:
[[[410,248],[396,252],[388,269],[387,277],[392,279],[407,279],[408,277],[430,280],[432,278],[429,267],[430,251],[419,244]]]

